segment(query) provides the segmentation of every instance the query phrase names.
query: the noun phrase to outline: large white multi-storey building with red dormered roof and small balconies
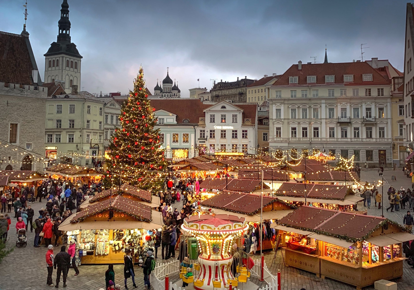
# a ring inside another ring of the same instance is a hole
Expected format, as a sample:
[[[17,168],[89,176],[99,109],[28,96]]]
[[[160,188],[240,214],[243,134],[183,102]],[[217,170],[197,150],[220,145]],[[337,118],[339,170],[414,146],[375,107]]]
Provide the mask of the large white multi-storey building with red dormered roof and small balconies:
[[[366,62],[299,61],[268,89],[269,146],[391,165],[390,89],[391,80]]]

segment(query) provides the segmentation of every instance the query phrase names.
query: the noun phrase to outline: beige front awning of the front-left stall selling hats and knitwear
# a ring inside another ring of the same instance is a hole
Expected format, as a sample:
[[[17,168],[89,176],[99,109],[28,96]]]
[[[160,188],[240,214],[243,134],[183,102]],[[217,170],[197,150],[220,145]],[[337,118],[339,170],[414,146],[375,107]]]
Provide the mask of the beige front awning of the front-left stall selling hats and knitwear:
[[[74,218],[76,214],[71,217]],[[81,221],[77,223],[70,223],[72,218],[67,218],[59,226],[59,230],[72,231],[72,230],[123,230],[123,229],[144,229],[154,230],[162,228],[164,223],[162,222],[162,215],[160,211],[151,212],[151,222],[144,222],[138,220],[89,220]]]

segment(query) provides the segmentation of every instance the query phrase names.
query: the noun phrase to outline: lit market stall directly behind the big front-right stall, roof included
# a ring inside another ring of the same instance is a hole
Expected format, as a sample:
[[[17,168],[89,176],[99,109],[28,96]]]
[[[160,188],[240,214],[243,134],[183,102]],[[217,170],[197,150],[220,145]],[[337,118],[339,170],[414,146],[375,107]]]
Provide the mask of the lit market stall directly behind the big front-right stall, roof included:
[[[346,186],[314,183],[284,182],[274,195],[296,206],[310,205],[340,211],[353,210],[354,205],[363,200]]]

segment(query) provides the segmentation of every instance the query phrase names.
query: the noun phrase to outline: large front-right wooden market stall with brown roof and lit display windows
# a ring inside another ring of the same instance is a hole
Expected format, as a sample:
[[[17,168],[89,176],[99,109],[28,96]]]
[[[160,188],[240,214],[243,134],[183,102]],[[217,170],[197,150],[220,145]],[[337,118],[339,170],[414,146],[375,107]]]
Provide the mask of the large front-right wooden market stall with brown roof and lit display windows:
[[[285,263],[356,286],[403,275],[402,242],[414,235],[386,218],[302,206],[272,228],[285,246]]]

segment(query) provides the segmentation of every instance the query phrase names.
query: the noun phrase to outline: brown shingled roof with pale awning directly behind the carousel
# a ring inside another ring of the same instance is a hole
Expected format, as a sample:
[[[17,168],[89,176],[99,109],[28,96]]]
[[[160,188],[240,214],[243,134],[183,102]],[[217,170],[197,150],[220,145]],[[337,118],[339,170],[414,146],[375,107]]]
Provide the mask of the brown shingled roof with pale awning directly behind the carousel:
[[[272,203],[274,204],[274,210],[272,210]],[[240,217],[247,218],[247,221],[260,220],[261,200],[258,194],[223,191],[214,197],[202,201],[201,205],[223,211],[216,210],[214,211],[216,214],[230,211],[233,213],[241,213],[242,216]],[[296,209],[296,206],[280,201],[276,197],[263,197],[263,219],[281,218],[293,209]],[[250,218],[245,215],[250,216]]]

